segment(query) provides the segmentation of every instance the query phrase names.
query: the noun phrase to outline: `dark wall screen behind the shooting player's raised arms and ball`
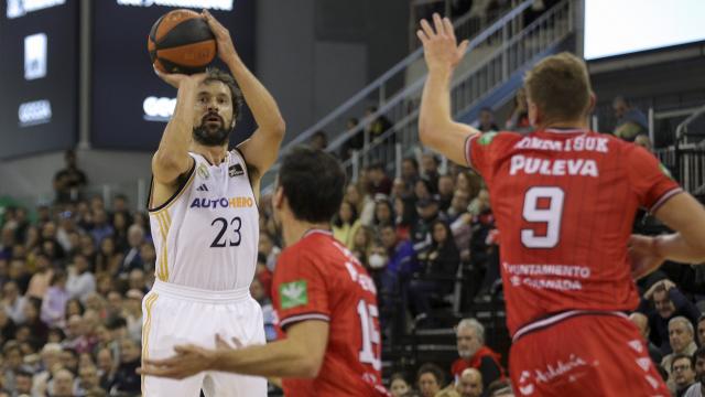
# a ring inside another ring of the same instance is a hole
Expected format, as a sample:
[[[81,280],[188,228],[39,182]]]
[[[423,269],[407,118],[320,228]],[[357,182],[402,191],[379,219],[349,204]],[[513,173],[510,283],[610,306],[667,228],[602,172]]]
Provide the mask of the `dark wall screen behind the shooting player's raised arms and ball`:
[[[253,69],[254,0],[100,0],[93,2],[91,146],[155,150],[176,103],[176,89],[153,72],[147,51],[152,24],[164,13],[206,8],[226,28]],[[220,62],[216,66],[225,68]],[[238,122],[232,141],[252,132]]]

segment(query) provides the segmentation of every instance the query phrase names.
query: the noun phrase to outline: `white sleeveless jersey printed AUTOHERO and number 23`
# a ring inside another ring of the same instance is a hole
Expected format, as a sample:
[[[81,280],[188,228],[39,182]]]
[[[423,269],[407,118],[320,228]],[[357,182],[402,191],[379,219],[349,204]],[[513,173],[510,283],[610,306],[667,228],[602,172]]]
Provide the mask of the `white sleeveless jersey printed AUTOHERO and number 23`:
[[[249,288],[260,226],[245,158],[234,150],[210,165],[189,154],[195,164],[181,189],[150,208],[156,278],[214,291]]]

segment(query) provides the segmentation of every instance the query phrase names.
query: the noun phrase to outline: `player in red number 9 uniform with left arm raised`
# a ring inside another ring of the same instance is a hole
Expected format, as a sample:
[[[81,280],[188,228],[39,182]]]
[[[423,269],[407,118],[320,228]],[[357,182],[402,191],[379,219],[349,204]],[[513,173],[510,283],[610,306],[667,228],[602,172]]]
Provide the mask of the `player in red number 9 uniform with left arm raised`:
[[[638,330],[633,278],[664,259],[705,260],[705,211],[653,155],[588,129],[584,62],[550,56],[525,76],[529,135],[451,117],[449,84],[467,42],[437,14],[422,21],[429,77],[421,141],[485,179],[500,234],[510,375],[521,396],[669,396]],[[630,236],[639,206],[675,234]]]

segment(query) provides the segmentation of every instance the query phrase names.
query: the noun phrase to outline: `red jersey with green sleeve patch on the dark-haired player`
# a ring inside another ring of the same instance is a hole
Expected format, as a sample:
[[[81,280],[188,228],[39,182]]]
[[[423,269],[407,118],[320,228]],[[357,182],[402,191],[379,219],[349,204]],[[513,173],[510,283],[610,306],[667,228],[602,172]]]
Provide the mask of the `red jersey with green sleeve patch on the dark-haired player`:
[[[286,396],[386,395],[375,282],[332,233],[311,230],[282,251],[272,297],[284,332],[305,320],[330,326],[318,376],[284,379]]]

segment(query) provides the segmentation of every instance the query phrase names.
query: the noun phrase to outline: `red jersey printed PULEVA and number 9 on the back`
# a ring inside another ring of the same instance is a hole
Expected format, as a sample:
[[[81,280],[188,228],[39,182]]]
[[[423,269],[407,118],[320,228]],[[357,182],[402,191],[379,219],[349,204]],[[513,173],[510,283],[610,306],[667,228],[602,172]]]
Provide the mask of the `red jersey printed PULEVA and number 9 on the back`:
[[[507,323],[567,310],[633,310],[627,243],[638,207],[681,192],[647,150],[587,130],[469,137],[499,229]]]

